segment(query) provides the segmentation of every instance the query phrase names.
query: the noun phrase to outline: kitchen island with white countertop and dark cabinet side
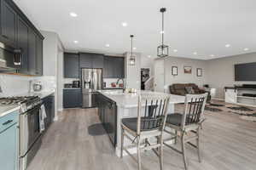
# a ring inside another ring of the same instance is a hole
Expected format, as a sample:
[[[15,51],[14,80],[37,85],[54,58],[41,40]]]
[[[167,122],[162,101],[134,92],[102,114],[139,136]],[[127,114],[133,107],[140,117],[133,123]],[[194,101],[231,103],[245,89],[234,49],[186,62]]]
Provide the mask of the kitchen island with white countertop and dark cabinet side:
[[[151,91],[141,91],[136,94],[124,94],[122,90],[99,90],[99,116],[105,127],[114,147],[117,156],[120,155],[121,146],[121,127],[123,118],[137,116],[137,100],[139,94],[161,94]],[[167,113],[174,112],[174,105],[184,103],[184,97],[170,94],[170,102]],[[170,138],[167,134],[164,138]],[[131,144],[130,140],[124,144]],[[136,148],[130,149],[131,153],[136,153]]]

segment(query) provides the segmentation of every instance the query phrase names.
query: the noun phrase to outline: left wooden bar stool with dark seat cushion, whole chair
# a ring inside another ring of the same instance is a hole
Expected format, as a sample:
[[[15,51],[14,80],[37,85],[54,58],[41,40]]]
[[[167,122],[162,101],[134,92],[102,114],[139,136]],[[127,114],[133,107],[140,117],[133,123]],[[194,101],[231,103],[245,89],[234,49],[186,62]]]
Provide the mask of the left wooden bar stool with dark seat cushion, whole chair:
[[[141,151],[154,150],[160,158],[160,169],[163,168],[163,132],[166,124],[166,112],[169,105],[168,94],[142,94],[138,97],[137,117],[124,118],[121,122],[121,157],[123,150],[135,161],[141,170]],[[131,145],[124,147],[124,138],[131,140]],[[149,139],[156,142],[149,143]],[[137,159],[128,151],[137,147]],[[158,150],[155,150],[158,149]]]

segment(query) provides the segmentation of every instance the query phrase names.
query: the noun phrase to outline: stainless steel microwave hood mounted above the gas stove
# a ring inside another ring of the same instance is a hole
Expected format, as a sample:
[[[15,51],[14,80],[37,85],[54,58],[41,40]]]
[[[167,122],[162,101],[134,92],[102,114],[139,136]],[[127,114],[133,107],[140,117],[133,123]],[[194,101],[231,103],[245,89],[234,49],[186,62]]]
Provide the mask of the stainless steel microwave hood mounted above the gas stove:
[[[3,42],[0,42],[0,72],[14,72],[17,70],[17,68],[15,68],[15,59],[20,58],[21,54],[17,54],[15,51],[15,48],[12,48],[5,45]]]

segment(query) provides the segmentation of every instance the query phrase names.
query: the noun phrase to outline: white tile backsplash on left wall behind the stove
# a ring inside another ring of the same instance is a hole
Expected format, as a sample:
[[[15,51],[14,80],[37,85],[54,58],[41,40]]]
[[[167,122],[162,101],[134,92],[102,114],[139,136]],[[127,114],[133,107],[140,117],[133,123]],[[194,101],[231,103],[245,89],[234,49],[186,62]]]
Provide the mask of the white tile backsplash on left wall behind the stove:
[[[55,77],[25,77],[17,75],[0,74],[0,97],[26,94],[30,91],[30,81],[40,81],[43,91],[56,88]]]

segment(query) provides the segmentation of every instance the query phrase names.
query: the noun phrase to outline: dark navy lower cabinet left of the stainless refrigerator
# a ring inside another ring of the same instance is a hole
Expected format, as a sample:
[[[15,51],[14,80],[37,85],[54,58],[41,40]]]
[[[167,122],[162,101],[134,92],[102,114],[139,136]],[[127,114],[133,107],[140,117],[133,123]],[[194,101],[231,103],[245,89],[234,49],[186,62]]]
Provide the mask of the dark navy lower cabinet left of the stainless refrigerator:
[[[82,106],[82,92],[80,88],[63,89],[63,107],[75,108]]]

